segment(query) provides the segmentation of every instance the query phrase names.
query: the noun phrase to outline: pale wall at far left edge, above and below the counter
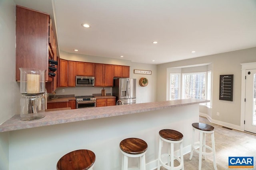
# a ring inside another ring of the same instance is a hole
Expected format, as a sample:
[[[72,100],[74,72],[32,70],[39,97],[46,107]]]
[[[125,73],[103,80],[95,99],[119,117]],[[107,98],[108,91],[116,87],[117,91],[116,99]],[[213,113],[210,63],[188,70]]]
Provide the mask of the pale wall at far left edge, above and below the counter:
[[[0,0],[0,124],[19,113],[20,89],[15,80],[15,4]],[[9,133],[0,133],[0,169],[9,169]]]

